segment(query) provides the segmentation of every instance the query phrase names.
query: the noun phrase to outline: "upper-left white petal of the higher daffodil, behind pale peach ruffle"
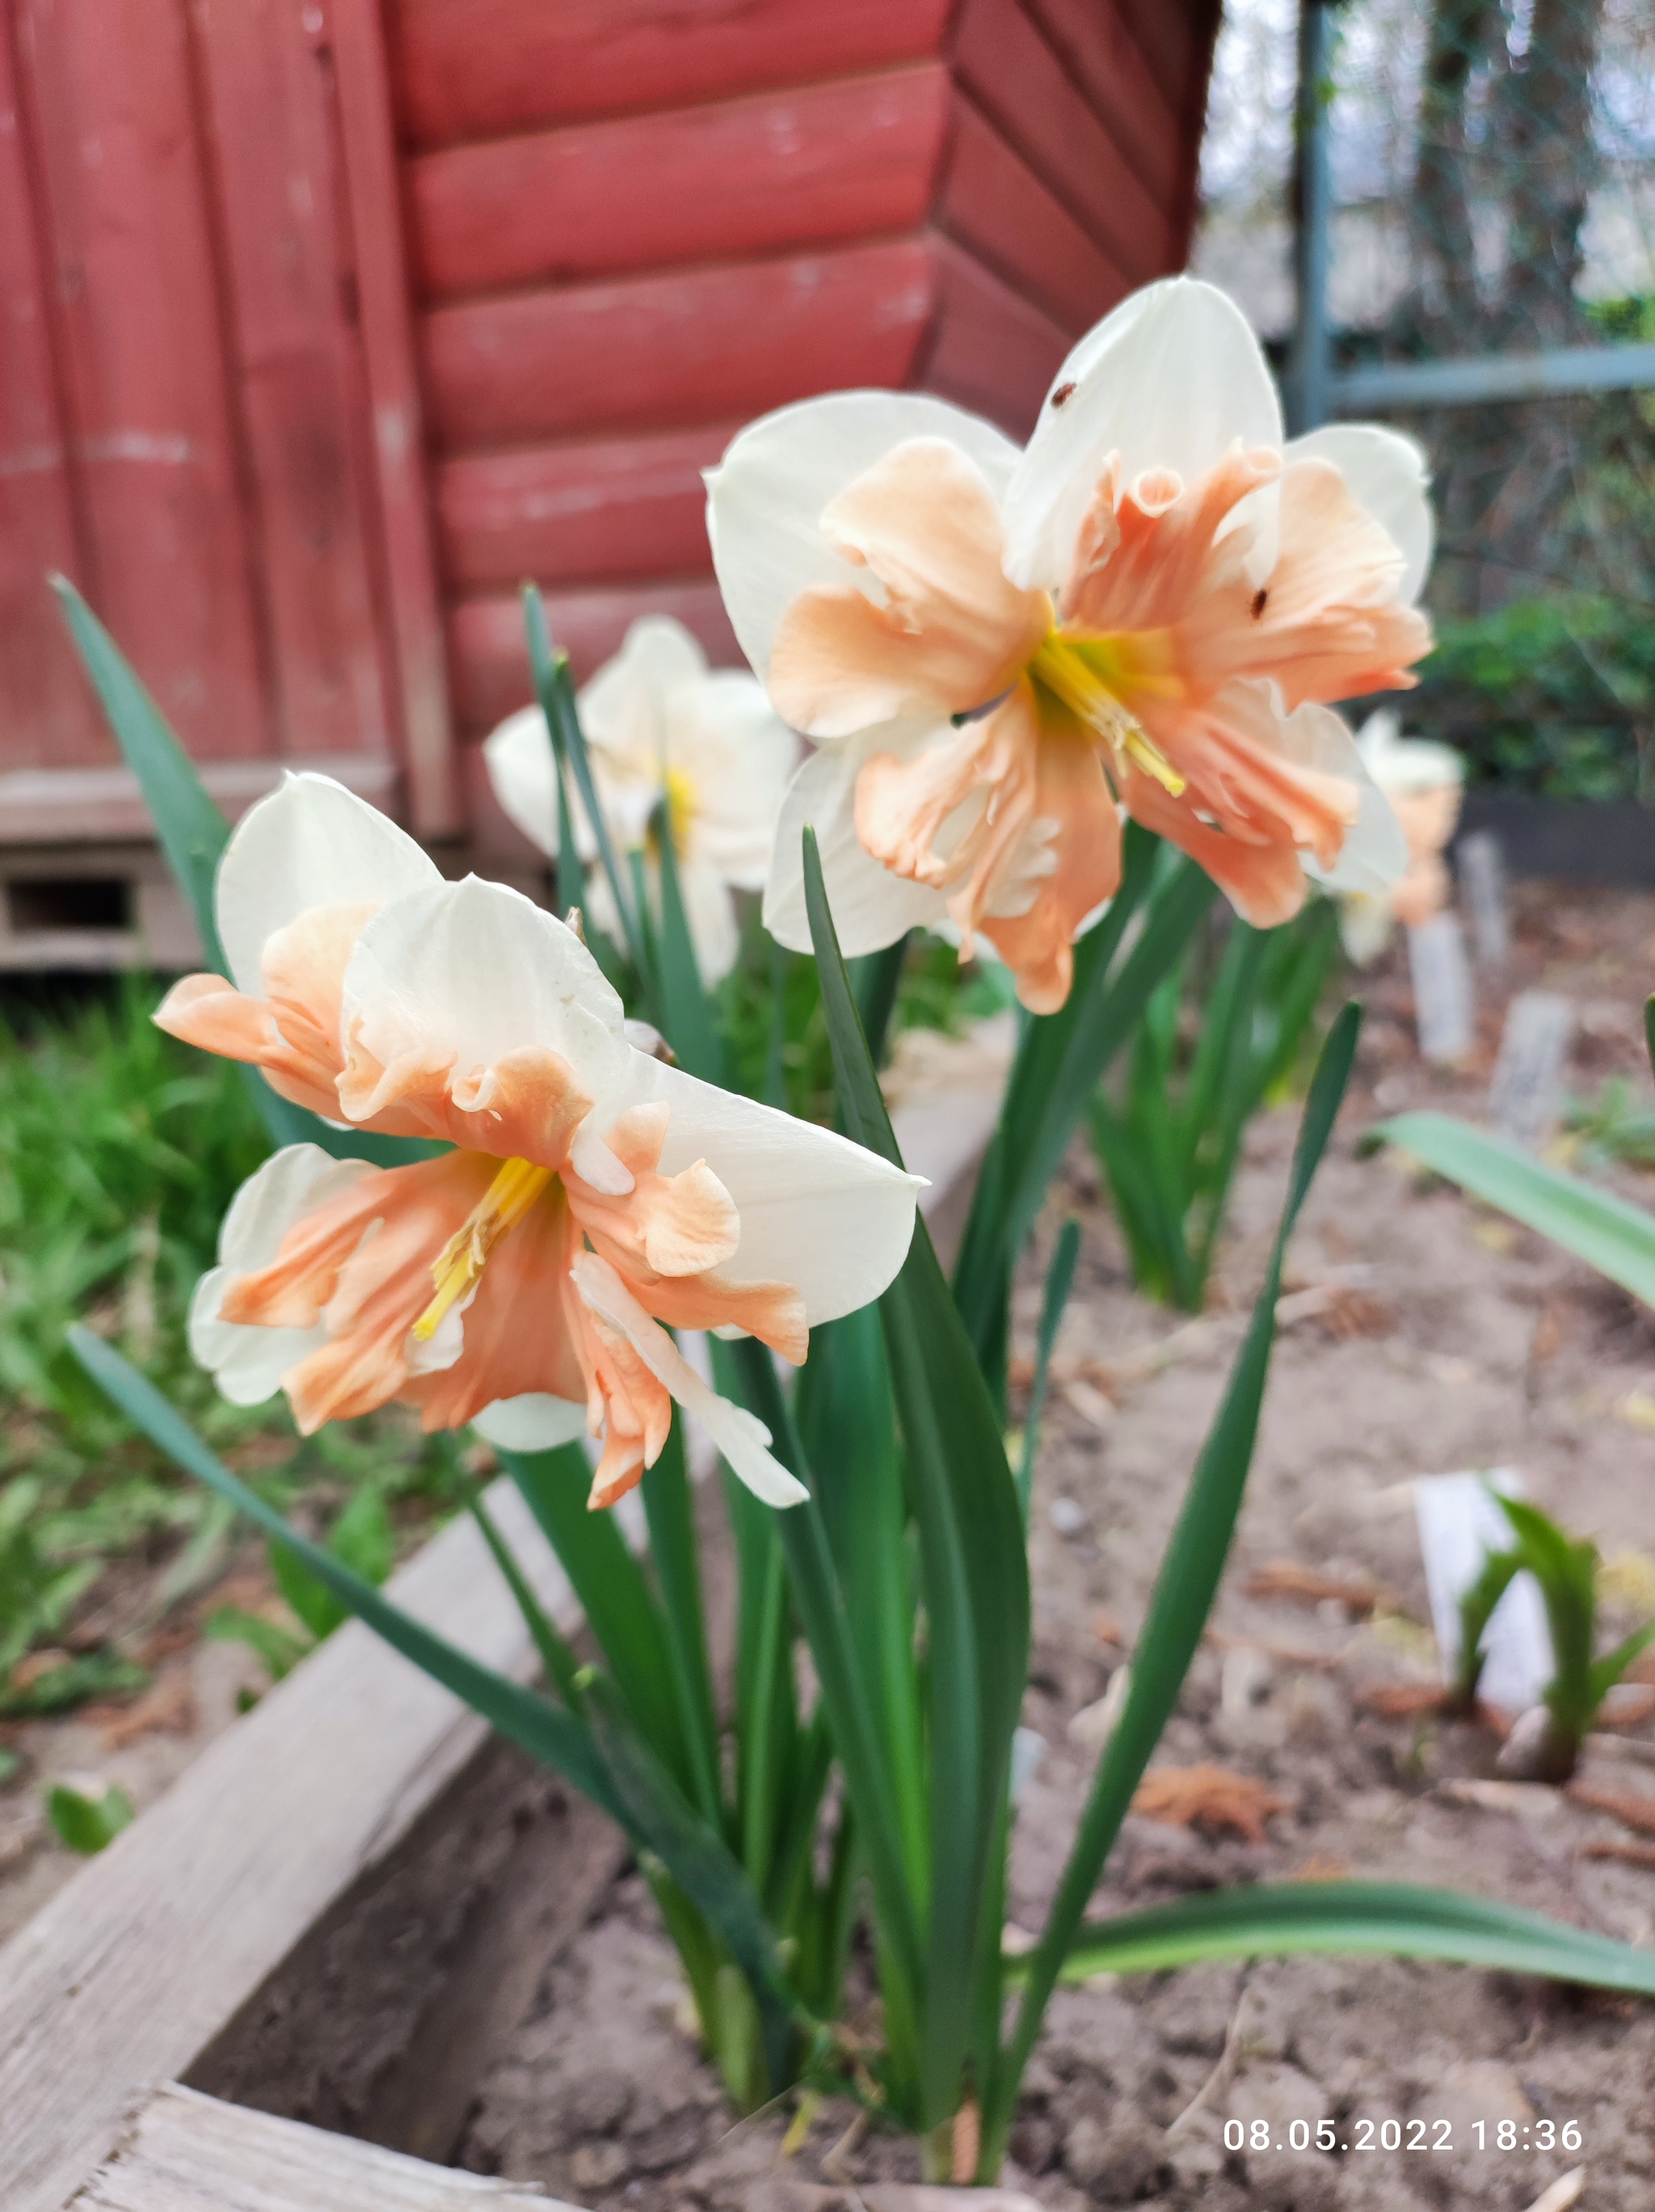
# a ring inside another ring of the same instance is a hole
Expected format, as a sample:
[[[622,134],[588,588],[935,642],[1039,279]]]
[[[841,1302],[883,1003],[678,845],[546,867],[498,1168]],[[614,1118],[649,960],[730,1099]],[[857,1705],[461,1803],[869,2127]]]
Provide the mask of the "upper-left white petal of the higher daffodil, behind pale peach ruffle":
[[[821,533],[828,502],[909,438],[949,438],[996,495],[1016,445],[980,416],[918,392],[830,392],[748,425],[708,471],[706,529],[724,606],[761,677],[788,606],[810,584],[861,582]]]

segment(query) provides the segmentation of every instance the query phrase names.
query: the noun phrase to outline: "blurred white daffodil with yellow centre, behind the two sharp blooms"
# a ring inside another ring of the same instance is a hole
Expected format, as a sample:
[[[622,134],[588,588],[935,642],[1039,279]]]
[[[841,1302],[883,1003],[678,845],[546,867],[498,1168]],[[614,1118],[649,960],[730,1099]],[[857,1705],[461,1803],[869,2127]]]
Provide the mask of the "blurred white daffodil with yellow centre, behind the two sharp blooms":
[[[701,980],[728,975],[741,945],[730,891],[761,891],[777,814],[799,743],[746,670],[708,668],[670,615],[646,615],[580,692],[580,726],[597,805],[622,852],[642,852],[655,878],[650,818],[666,801],[684,914]],[[555,858],[558,781],[538,706],[507,717],[482,745],[493,794],[522,834]],[[593,860],[597,838],[575,799],[575,838]],[[591,918],[620,936],[602,872],[586,885]]]

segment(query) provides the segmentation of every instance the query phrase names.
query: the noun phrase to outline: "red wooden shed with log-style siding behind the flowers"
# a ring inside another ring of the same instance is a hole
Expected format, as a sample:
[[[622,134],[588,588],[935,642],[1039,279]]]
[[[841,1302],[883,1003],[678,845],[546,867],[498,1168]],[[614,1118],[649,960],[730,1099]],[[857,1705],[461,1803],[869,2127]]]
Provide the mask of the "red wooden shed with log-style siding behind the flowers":
[[[907,385],[1027,431],[1184,261],[1219,0],[0,0],[0,964],[181,956],[51,608],[228,807],[498,823],[516,586],[735,659],[699,471]]]

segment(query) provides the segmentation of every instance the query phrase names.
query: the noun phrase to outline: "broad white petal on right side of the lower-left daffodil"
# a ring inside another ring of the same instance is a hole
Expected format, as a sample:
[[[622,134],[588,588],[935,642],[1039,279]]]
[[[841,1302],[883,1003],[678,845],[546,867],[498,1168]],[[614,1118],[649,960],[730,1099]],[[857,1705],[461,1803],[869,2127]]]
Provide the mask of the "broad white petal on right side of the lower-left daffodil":
[[[613,1110],[666,1099],[662,1172],[706,1159],[741,1214],[721,1283],[792,1283],[805,1321],[836,1321],[876,1298],[907,1259],[925,1188],[876,1152],[642,1053]]]

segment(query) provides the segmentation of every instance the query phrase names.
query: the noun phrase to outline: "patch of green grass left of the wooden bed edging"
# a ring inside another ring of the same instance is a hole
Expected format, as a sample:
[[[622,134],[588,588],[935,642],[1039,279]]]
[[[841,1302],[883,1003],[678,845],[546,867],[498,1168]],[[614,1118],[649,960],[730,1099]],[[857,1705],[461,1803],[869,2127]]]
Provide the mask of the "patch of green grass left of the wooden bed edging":
[[[126,980],[0,1011],[0,1717],[133,1688],[131,1659],[97,1646],[73,1674],[9,1677],[97,1608],[115,1559],[142,1571],[155,1617],[228,1537],[228,1515],[91,1387],[64,1349],[71,1321],[288,1504],[327,1515],[365,1484],[427,1506],[447,1493],[447,1462],[400,1416],[301,1442],[283,1400],[230,1407],[190,1360],[190,1292],[268,1139],[239,1068],[162,1035],[157,998]]]

